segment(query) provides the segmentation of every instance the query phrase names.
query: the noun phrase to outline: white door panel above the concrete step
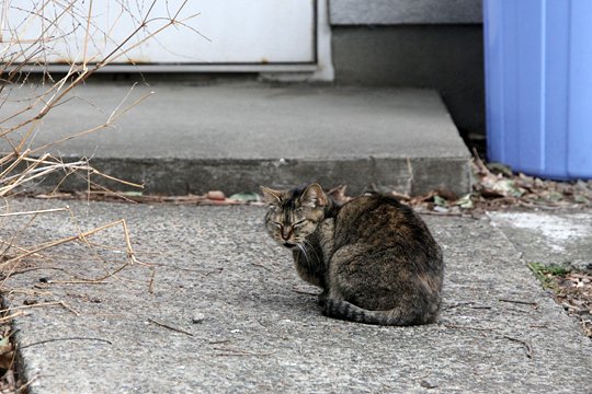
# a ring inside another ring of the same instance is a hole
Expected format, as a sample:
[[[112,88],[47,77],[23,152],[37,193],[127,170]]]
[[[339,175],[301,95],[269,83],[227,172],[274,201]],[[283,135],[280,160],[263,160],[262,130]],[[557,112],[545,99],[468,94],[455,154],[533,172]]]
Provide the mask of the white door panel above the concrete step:
[[[317,60],[315,0],[189,0],[175,18],[178,23],[159,31],[182,3],[94,0],[89,11],[89,0],[4,0],[0,50],[22,49],[43,37],[43,50],[32,50],[29,62],[59,65],[83,58],[96,62],[122,43],[121,49],[127,51],[112,63],[186,68]],[[12,47],[7,48],[7,43]]]

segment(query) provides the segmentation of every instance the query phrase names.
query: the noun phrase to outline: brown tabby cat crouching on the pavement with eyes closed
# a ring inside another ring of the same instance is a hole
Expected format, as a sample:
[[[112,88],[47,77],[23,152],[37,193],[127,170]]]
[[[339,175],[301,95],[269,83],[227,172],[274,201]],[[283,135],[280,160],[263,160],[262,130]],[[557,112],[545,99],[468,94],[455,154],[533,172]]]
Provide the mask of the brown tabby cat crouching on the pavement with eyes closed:
[[[322,289],[326,316],[398,326],[436,320],[442,252],[411,208],[377,193],[341,205],[319,184],[261,190],[267,232],[292,251],[300,278]]]

